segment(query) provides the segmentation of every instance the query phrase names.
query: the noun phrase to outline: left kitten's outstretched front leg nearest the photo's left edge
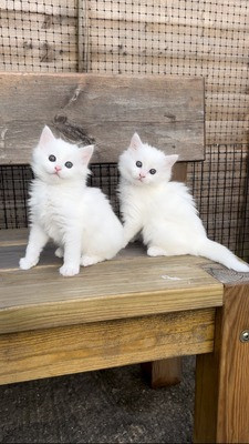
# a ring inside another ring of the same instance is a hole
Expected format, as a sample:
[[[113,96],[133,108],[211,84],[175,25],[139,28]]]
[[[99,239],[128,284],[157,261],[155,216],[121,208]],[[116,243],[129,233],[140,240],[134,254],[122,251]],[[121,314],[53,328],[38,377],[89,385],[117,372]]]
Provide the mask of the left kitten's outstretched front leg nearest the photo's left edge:
[[[49,240],[48,234],[37,224],[30,230],[29,242],[25,250],[25,256],[20,259],[19,265],[22,270],[29,270],[37,265],[40,254]]]

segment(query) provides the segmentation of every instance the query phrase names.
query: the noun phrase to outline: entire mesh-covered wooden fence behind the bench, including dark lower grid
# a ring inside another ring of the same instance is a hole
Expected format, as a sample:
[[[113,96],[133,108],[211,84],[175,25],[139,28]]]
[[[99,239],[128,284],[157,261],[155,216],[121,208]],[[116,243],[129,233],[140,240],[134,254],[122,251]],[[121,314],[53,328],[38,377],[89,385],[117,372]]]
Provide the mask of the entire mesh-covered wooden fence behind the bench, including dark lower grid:
[[[247,259],[248,10],[246,0],[1,0],[0,70],[205,77],[206,161],[189,165],[188,184],[208,234]],[[93,171],[117,209],[116,167]],[[30,176],[1,168],[1,228],[27,225]]]

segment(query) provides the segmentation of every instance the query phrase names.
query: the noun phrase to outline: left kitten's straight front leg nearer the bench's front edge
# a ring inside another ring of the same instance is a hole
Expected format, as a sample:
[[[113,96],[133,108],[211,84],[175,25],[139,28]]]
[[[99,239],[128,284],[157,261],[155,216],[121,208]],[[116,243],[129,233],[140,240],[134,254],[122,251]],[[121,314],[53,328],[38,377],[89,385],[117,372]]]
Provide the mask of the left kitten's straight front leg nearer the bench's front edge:
[[[60,273],[63,276],[73,276],[80,272],[81,235],[77,232],[77,229],[72,228],[65,236],[64,263],[60,268]]]

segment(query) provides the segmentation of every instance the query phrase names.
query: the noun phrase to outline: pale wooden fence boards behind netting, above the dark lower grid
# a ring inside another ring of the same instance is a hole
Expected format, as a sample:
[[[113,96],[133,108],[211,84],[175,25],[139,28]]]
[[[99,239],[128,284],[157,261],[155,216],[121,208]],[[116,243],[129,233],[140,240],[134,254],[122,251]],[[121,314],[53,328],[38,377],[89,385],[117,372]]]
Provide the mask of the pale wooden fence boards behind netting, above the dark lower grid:
[[[92,73],[206,77],[207,143],[248,142],[245,0],[3,3],[2,70],[76,71],[84,53]]]

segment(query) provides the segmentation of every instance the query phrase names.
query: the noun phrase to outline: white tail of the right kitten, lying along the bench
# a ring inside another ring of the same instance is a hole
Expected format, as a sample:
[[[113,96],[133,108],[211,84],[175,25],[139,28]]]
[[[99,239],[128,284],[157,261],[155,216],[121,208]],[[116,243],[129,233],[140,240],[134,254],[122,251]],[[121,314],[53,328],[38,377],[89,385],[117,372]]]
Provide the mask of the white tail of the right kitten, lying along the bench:
[[[198,254],[211,259],[215,262],[219,262],[228,269],[239,272],[249,272],[248,264],[239,261],[226,246],[218,242],[210,241],[209,239],[205,239],[204,242],[201,242]]]

